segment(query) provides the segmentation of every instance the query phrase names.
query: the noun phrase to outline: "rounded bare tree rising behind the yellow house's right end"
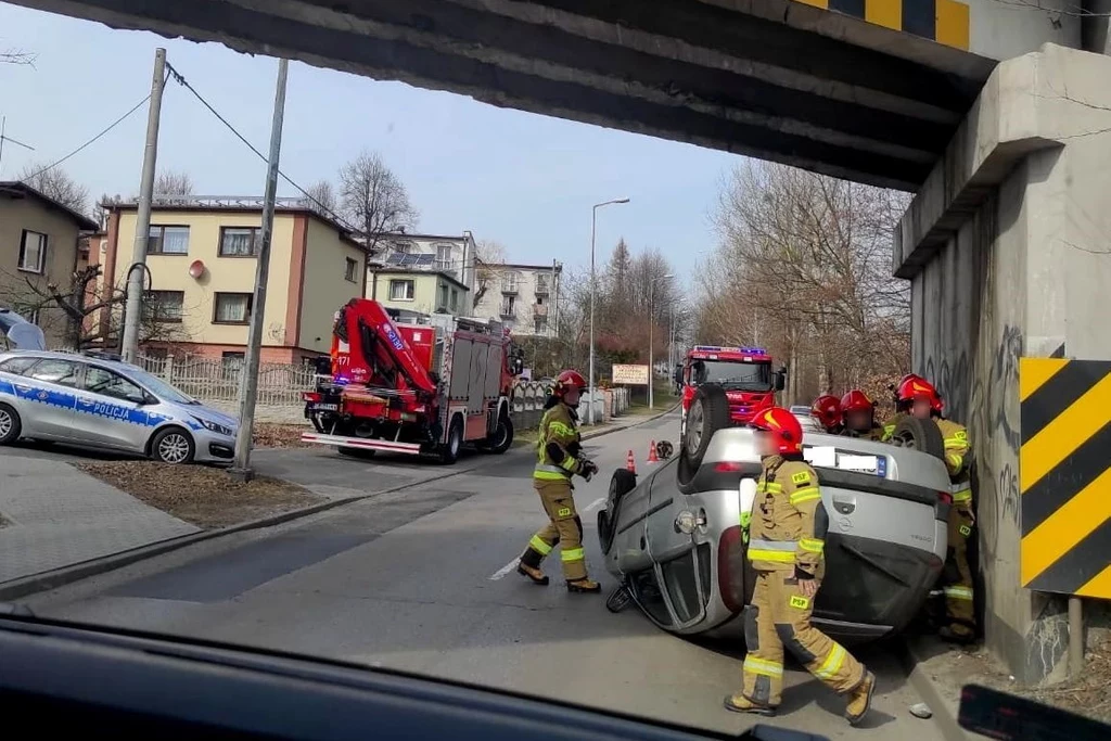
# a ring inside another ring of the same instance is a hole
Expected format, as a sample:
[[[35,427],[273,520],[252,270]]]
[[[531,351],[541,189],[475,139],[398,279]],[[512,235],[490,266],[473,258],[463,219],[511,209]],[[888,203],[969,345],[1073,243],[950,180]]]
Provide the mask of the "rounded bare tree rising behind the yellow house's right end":
[[[377,152],[364,151],[340,168],[340,201],[371,250],[382,234],[417,226],[419,213],[404,184]]]

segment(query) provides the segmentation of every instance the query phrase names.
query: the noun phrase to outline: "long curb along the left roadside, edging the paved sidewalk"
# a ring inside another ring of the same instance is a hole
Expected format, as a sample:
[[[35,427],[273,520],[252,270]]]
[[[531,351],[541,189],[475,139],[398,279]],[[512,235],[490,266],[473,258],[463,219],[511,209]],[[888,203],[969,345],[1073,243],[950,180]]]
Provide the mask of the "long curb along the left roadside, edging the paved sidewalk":
[[[367,494],[356,494],[353,497],[344,497],[342,499],[332,499],[326,502],[319,502],[317,504],[310,504],[309,507],[302,507],[296,510],[288,510],[286,512],[279,512],[278,514],[271,514],[269,517],[259,518],[258,520],[249,520],[248,522],[240,522],[239,524],[228,525],[227,528],[218,528],[216,530],[204,530],[202,532],[193,532],[188,535],[177,535],[174,538],[169,538],[167,540],[156,541],[153,543],[148,543],[147,545],[139,545],[138,548],[132,548],[127,551],[121,551],[119,553],[112,553],[110,555],[101,555],[96,559],[90,559],[88,561],[81,561],[80,563],[74,563],[72,565],[59,567],[58,569],[52,569],[50,571],[42,571],[37,574],[31,574],[29,577],[20,577],[19,579],[12,579],[0,583],[0,602],[10,602],[28,594],[34,594],[37,592],[46,592],[51,589],[58,589],[59,587],[64,587],[71,584],[76,581],[82,579],[88,579],[89,577],[96,577],[109,571],[114,571],[116,569],[122,569],[123,567],[131,565],[139,561],[146,559],[151,559],[157,555],[162,555],[164,553],[170,553],[172,551],[180,550],[182,548],[188,548],[196,543],[204,542],[206,540],[213,540],[222,535],[231,535],[237,532],[246,532],[248,530],[259,530],[261,528],[270,528],[276,524],[282,524],[290,522],[292,520],[299,520],[301,518],[309,517],[311,514],[317,514],[319,512],[326,512],[338,507],[343,507],[344,504],[351,504],[364,499],[370,499],[372,497],[380,497],[381,494],[389,494],[396,491],[401,491],[402,489],[409,489],[410,487],[417,487],[422,483],[429,483],[431,481],[439,481],[441,479],[450,479],[453,475],[460,475],[467,473],[473,469],[464,469],[459,471],[451,471],[450,473],[444,473],[442,475],[432,477],[430,479],[423,479],[422,481],[406,483],[398,487],[391,487],[390,489],[383,489],[381,491],[376,491],[373,493]]]

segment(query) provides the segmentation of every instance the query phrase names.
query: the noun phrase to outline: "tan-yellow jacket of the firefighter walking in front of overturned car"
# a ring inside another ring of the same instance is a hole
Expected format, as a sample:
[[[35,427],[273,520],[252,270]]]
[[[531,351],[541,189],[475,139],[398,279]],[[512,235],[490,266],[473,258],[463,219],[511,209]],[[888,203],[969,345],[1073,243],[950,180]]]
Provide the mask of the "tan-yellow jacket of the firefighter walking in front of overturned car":
[[[805,461],[763,459],[749,525],[749,560],[757,571],[820,575],[829,519],[818,473]]]

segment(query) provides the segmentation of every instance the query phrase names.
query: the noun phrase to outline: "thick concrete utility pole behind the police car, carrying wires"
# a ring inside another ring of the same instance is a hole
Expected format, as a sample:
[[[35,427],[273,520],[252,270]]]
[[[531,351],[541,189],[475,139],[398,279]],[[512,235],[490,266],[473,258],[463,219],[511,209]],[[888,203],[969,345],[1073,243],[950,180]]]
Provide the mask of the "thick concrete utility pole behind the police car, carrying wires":
[[[139,183],[139,213],[136,216],[136,239],[128,268],[128,301],[123,311],[124,362],[139,360],[139,324],[142,320],[142,281],[147,266],[147,241],[150,239],[150,208],[154,197],[154,166],[158,160],[158,126],[162,118],[162,91],[166,89],[166,49],[154,50],[154,74],[150,87],[150,110],[147,113],[147,147],[142,154],[142,179]],[[109,276],[108,280],[112,277]]]

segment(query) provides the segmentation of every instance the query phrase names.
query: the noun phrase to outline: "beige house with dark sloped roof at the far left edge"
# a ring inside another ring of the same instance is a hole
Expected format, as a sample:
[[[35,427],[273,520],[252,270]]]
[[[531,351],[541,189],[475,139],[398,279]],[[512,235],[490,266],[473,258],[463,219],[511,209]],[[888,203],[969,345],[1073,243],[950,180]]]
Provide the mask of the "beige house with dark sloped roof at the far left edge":
[[[0,308],[42,328],[51,347],[69,344],[66,314],[48,286],[69,294],[82,232],[97,222],[22,182],[0,182]]]

